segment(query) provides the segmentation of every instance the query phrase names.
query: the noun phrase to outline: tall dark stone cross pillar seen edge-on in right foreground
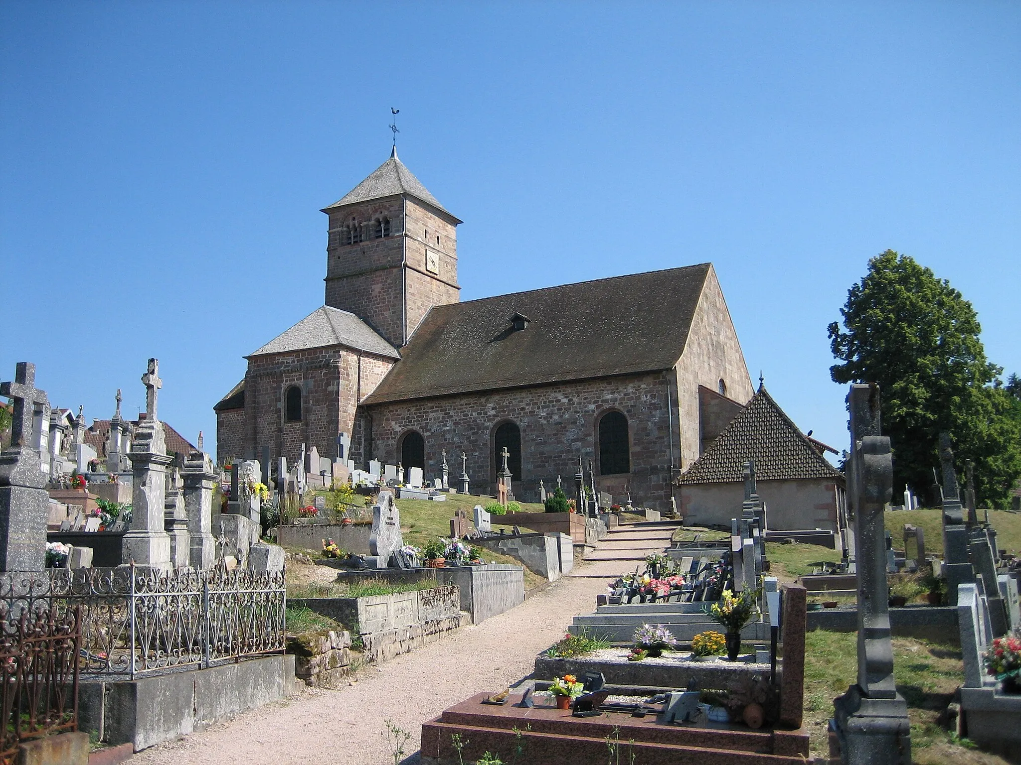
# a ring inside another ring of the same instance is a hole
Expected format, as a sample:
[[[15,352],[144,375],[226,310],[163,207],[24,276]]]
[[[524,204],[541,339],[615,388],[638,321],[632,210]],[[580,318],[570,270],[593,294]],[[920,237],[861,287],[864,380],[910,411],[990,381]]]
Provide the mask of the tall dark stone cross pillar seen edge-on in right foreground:
[[[853,385],[847,489],[858,551],[858,682],[833,702],[841,762],[910,765],[908,705],[893,681],[883,511],[893,495],[890,440],[880,435],[879,387]]]

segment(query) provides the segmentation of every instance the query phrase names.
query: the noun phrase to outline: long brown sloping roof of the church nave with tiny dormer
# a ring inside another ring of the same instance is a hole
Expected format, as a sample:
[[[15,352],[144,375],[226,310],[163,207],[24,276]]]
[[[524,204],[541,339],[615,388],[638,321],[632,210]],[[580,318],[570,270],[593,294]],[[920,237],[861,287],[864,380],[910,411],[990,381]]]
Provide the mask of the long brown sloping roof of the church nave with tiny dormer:
[[[673,367],[710,263],[434,306],[367,405]],[[513,317],[520,316],[515,329]]]

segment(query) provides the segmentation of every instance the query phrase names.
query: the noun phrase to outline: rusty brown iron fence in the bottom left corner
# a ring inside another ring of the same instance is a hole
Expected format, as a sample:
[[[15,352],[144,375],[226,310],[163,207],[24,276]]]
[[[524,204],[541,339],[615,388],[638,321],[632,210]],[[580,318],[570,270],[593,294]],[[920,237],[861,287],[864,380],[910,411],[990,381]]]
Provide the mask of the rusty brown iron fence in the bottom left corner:
[[[17,760],[21,742],[78,727],[76,660],[81,645],[81,609],[3,611],[0,630],[0,764]],[[13,618],[6,618],[13,617]]]

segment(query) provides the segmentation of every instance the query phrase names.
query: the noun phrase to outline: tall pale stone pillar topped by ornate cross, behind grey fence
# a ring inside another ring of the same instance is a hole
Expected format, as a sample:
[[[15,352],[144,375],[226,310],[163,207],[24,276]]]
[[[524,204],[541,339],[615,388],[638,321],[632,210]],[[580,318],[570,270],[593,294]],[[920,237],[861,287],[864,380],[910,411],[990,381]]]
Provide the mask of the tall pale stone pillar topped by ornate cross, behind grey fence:
[[[163,424],[156,413],[158,391],[163,385],[157,359],[149,359],[142,382],[146,391],[145,419],[128,455],[133,472],[133,514],[131,528],[121,543],[121,560],[166,571],[171,568],[171,536],[164,529],[166,468],[173,459],[166,454]]]

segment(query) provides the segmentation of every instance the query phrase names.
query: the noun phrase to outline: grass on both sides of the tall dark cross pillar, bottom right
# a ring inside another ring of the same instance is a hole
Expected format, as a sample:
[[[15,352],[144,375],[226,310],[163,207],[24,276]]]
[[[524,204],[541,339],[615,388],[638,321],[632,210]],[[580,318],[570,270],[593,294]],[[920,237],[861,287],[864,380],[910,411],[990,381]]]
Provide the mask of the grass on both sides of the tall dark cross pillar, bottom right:
[[[805,646],[805,726],[812,740],[812,755],[829,752],[826,725],[833,714],[833,699],[843,694],[858,675],[855,632],[815,630]],[[954,692],[964,681],[961,652],[912,638],[893,639],[893,675],[897,691],[908,702],[911,718],[912,760],[918,765],[965,763],[1006,765],[994,755],[979,752],[937,723]]]

